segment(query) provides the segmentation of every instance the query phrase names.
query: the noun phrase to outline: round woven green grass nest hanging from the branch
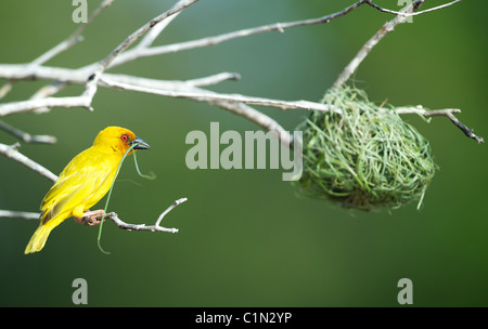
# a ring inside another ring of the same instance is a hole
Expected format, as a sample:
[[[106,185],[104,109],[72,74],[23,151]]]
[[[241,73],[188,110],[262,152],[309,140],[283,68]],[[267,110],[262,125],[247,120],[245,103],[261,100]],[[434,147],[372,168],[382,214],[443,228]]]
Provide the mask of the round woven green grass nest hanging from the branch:
[[[422,202],[436,164],[428,141],[390,105],[378,106],[363,91],[330,90],[324,104],[341,109],[312,111],[303,131],[300,194],[345,208],[372,210]]]

